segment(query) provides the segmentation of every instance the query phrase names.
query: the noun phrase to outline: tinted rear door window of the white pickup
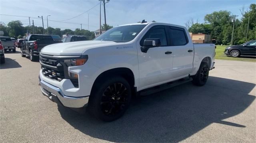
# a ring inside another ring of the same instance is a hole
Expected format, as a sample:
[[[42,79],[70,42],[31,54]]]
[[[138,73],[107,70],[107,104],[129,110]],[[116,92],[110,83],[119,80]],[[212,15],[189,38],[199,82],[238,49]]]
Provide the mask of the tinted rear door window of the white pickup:
[[[172,46],[186,45],[188,42],[185,31],[182,28],[170,27],[169,34]]]

